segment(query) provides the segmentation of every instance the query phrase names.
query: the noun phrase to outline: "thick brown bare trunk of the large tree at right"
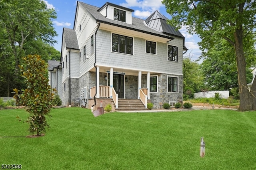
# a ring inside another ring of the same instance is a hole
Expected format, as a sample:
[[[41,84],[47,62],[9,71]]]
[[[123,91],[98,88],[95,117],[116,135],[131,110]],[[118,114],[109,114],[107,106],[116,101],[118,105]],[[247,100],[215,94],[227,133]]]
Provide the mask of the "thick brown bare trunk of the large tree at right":
[[[246,81],[246,62],[243,49],[242,28],[236,30],[234,33],[234,38],[240,95],[240,105],[238,111],[256,110],[256,98],[253,96],[253,93],[250,93]],[[254,83],[253,89],[256,89],[255,84],[256,83]]]

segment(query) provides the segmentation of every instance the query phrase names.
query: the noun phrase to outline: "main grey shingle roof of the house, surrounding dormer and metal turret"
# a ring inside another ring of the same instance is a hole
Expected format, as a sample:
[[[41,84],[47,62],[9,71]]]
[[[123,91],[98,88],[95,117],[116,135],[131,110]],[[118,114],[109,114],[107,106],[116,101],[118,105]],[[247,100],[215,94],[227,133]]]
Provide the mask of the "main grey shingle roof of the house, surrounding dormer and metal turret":
[[[84,2],[78,2],[78,3],[81,4],[94,17],[94,19],[97,22],[103,22],[105,24],[110,24],[110,25],[119,26],[119,27],[131,29],[131,30],[136,30],[139,32],[144,32],[147,34],[152,34],[152,35],[160,36],[163,38],[169,38],[170,40],[174,39],[174,37],[184,38],[184,36],[178,30],[175,30],[174,27],[166,24],[167,18],[164,17],[162,14],[160,14],[158,11],[156,11],[156,12],[159,14],[159,16],[161,16],[160,17],[161,20],[164,21],[164,22],[161,21],[161,24],[162,24],[162,27],[164,28],[165,32],[156,31],[156,30],[150,28],[149,26],[146,26],[144,24],[143,19],[139,19],[139,18],[135,18],[135,17],[132,17],[132,24],[127,24],[125,22],[111,20],[109,18],[106,18],[102,14],[100,14],[100,12],[98,12],[98,10],[100,8],[86,4]],[[153,14],[155,14],[155,12]],[[153,16],[153,14],[151,16]],[[151,18],[150,17],[147,18],[145,20],[145,22],[148,20],[151,20]],[[166,33],[166,34],[164,34],[164,33]]]

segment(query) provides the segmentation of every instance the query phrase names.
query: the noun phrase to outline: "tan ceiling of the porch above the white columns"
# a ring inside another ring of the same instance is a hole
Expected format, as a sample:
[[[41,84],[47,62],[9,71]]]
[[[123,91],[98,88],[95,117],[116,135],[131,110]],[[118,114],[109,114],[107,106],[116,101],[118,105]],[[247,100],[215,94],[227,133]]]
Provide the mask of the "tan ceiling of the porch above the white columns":
[[[90,71],[95,71],[95,67],[90,69]],[[110,67],[103,67],[100,66],[100,73],[107,73],[107,71],[110,71]],[[113,67],[113,72],[114,73],[123,73],[125,75],[136,75],[138,76],[139,70],[132,70],[132,69],[123,69],[123,68],[114,68]],[[142,71],[142,74],[147,74],[147,71]],[[154,72],[150,72],[150,74],[153,74]]]

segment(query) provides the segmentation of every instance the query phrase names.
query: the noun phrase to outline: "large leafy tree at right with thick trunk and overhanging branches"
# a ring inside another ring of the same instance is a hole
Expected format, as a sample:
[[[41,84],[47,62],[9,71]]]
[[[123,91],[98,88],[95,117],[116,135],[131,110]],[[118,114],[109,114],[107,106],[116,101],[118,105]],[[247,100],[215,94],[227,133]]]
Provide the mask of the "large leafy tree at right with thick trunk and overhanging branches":
[[[254,0],[163,0],[166,10],[172,15],[169,24],[178,29],[188,26],[189,33],[196,33],[202,42],[200,47],[210,49],[217,41],[226,40],[234,47],[238,87],[239,111],[256,109],[256,80],[248,90],[246,81],[246,55],[244,36],[254,33],[256,2]]]

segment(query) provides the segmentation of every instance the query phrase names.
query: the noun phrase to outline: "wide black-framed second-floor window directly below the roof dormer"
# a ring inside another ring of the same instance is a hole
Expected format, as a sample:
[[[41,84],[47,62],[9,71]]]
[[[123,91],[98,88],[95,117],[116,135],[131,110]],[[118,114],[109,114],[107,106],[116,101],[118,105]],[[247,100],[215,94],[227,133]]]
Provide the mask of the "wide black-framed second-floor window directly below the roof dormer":
[[[133,38],[121,36],[118,34],[112,35],[112,51],[118,53],[133,53]]]

